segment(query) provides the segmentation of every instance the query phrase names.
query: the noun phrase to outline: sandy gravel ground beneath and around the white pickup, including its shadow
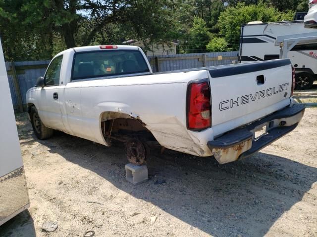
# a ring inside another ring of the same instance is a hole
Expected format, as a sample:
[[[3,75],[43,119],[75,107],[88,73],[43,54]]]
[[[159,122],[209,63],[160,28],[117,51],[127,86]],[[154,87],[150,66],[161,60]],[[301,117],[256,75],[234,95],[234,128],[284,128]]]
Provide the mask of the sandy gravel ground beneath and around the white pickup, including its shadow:
[[[40,141],[26,114],[17,127],[31,207],[1,226],[1,237],[317,237],[317,108],[235,163],[155,151],[139,186],[125,180],[122,146],[64,133]],[[57,230],[43,232],[46,221]]]

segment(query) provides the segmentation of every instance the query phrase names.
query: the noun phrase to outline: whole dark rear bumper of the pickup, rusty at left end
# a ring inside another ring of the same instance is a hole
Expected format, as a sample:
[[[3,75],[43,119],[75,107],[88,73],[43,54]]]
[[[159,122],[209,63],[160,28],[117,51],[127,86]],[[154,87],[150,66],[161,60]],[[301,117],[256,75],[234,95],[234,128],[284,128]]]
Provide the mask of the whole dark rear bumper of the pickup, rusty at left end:
[[[247,158],[260,151],[280,137],[294,130],[304,116],[305,106],[295,104],[286,107],[247,126],[230,131],[214,141],[208,147],[220,164],[239,158]],[[255,133],[266,126],[265,133],[255,138]]]

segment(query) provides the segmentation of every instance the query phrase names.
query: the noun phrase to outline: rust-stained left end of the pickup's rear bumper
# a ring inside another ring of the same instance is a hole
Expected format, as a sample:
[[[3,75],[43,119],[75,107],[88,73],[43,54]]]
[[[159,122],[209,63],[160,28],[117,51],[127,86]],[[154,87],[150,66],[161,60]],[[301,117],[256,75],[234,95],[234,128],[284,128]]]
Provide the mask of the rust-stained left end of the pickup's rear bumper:
[[[212,154],[220,164],[225,164],[236,161],[242,153],[250,150],[251,147],[252,138],[226,149],[213,148]]]

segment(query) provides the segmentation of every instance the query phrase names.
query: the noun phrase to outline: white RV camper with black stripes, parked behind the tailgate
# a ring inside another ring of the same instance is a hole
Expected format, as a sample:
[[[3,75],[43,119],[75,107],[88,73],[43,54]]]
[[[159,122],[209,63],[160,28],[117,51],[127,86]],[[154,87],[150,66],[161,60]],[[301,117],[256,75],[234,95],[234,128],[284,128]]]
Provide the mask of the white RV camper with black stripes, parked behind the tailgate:
[[[275,46],[277,37],[311,32],[317,30],[305,28],[303,21],[244,24],[241,26],[239,63],[279,59],[280,49]],[[288,58],[296,69],[296,88],[311,88],[317,79],[317,42],[295,45]]]

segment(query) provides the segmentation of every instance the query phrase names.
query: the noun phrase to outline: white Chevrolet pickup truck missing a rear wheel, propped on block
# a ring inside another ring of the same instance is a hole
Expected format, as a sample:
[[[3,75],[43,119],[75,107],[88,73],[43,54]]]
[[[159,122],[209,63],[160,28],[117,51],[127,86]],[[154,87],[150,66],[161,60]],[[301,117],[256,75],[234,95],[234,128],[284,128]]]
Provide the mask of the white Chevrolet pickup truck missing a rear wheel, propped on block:
[[[289,59],[153,73],[139,47],[87,46],[58,53],[26,97],[39,139],[60,130],[118,140],[135,164],[152,146],[223,164],[298,125],[305,107],[292,99],[294,76]]]

